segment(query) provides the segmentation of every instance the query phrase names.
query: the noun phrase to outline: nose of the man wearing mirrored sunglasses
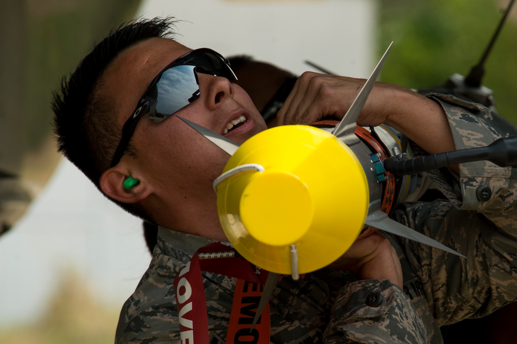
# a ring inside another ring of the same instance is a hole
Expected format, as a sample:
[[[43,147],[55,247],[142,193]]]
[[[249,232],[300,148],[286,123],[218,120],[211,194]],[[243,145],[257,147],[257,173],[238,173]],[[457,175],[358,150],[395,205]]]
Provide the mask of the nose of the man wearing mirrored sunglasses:
[[[200,98],[209,110],[216,110],[226,98],[233,97],[234,87],[223,76],[198,73]]]

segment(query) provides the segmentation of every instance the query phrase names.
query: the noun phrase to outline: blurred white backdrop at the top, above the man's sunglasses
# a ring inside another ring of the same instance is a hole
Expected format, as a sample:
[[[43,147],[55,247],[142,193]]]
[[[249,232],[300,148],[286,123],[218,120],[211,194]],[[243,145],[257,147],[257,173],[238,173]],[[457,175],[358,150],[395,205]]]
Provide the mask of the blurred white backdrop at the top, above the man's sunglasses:
[[[372,0],[146,0],[138,14],[181,20],[176,39],[189,48],[245,53],[296,74],[314,70],[303,63],[311,60],[368,77],[375,55]]]

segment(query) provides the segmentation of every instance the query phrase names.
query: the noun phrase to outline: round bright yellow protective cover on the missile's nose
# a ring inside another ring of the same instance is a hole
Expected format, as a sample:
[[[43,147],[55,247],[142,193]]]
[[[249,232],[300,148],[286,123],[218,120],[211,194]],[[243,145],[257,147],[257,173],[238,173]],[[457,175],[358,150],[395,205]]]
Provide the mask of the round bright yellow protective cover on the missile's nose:
[[[246,171],[217,189],[226,237],[248,261],[291,274],[290,245],[300,274],[325,267],[357,238],[368,212],[368,182],[359,160],[336,136],[308,126],[263,131],[242,144],[223,172]]]

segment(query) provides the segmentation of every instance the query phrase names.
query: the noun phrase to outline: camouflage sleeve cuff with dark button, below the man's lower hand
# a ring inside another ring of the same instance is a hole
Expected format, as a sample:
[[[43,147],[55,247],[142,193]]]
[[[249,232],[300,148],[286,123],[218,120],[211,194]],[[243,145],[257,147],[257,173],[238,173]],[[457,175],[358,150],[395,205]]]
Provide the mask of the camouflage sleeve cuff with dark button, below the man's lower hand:
[[[372,297],[380,300],[380,304],[372,303]],[[420,344],[427,342],[425,329],[415,306],[402,289],[389,280],[360,280],[339,290],[324,341],[328,344]]]

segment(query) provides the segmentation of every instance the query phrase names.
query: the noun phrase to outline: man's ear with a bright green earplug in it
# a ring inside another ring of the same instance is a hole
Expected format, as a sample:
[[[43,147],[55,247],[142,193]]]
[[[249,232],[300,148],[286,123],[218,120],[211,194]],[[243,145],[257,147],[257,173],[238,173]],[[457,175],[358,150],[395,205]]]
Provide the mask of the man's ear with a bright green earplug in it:
[[[139,183],[127,190],[124,187],[124,181],[129,177],[138,179]],[[99,184],[105,195],[124,203],[138,202],[153,193],[153,187],[150,186],[143,175],[138,171],[129,171],[127,166],[123,164],[118,164],[104,171],[100,176]]]

